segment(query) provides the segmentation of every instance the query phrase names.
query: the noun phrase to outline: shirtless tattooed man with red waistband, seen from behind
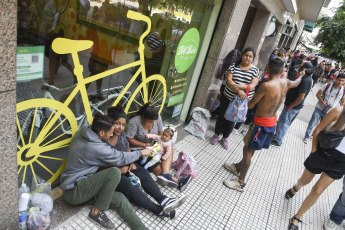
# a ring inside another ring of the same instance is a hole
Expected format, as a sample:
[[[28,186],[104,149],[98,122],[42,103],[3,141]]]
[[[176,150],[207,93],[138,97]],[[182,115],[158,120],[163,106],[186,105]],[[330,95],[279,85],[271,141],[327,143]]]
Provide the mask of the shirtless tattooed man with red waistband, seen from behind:
[[[254,152],[262,148],[269,148],[277,124],[277,111],[286,92],[289,88],[297,87],[304,75],[304,71],[300,72],[295,81],[280,78],[283,67],[284,61],[281,58],[272,58],[268,66],[269,80],[260,85],[253,98],[248,102],[249,109],[257,105],[257,110],[254,123],[250,125],[247,135],[243,139],[242,160],[237,164],[224,164],[227,170],[238,176],[238,180],[224,180],[224,184],[231,189],[244,191],[244,179]]]

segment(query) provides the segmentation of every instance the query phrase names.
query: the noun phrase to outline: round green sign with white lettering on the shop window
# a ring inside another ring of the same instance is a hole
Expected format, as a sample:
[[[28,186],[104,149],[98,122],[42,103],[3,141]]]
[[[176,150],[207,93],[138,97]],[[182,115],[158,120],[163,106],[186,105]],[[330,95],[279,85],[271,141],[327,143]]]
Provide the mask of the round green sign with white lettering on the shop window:
[[[179,73],[184,73],[193,63],[199,49],[199,32],[189,29],[178,44],[175,56],[175,67]]]

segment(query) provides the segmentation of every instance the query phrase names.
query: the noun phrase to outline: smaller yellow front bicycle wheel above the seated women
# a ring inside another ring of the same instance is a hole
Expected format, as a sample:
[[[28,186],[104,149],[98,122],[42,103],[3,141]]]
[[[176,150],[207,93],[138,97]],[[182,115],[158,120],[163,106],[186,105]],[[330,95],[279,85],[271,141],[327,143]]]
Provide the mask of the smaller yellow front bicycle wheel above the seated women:
[[[147,89],[147,97],[145,97],[144,89]],[[154,106],[159,108],[159,113],[162,112],[164,107],[167,93],[167,86],[165,78],[161,75],[155,74],[142,82],[138,88],[134,91],[131,98],[129,99],[125,113],[132,114],[139,111],[140,107],[151,102]]]

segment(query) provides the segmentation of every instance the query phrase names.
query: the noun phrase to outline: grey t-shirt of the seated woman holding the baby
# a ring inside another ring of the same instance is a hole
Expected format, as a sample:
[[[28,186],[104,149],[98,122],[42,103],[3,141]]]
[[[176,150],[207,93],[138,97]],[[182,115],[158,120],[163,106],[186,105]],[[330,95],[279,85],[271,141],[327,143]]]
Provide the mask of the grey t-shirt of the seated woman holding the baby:
[[[154,121],[153,127],[150,133],[146,132],[141,124],[141,116],[135,116],[129,120],[128,125],[126,127],[126,135],[128,138],[134,138],[141,142],[146,143],[154,143],[154,140],[145,138],[146,134],[158,134],[159,132],[163,131],[163,122],[161,116],[158,117],[157,120]],[[143,149],[143,147],[131,147],[131,149],[139,150]]]

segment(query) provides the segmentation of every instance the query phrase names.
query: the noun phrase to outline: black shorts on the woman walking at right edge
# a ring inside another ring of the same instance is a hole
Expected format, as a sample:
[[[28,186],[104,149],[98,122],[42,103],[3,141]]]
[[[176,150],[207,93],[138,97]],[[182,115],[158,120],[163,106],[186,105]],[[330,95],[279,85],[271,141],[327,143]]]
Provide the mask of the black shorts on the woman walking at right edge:
[[[332,179],[339,180],[345,175],[345,155],[335,149],[327,152],[318,149],[308,156],[304,166],[311,173],[324,172]]]

